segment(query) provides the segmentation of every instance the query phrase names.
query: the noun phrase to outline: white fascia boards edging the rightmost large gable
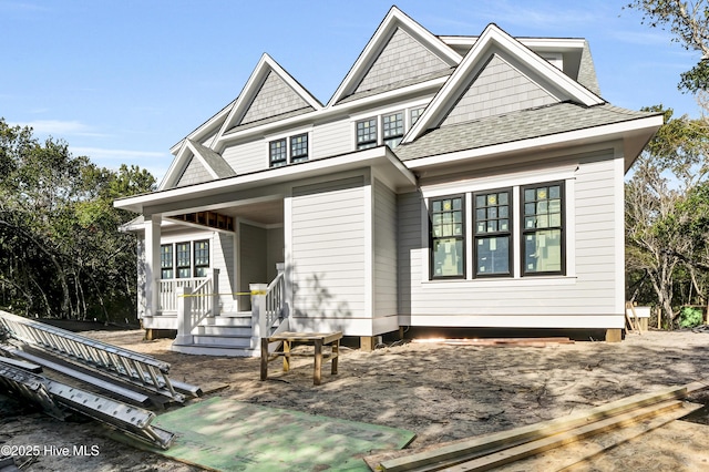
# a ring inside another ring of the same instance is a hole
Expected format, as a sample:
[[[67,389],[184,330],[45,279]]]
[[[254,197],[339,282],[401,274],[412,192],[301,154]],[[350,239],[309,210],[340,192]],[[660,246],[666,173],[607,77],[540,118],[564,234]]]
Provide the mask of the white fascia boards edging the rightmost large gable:
[[[548,61],[544,60],[528,48],[522,45],[510,34],[491,23],[485,28],[485,31],[483,31],[465,58],[463,58],[463,61],[449,78],[448,82],[433,98],[431,104],[423,112],[417,124],[409,130],[409,133],[403,137],[402,143],[407,144],[415,141],[430,126],[438,124],[436,121],[440,119],[440,114],[446,111],[446,106],[449,106],[452,101],[456,100],[462,93],[464,93],[466,88],[463,85],[471,80],[471,72],[474,71],[475,68],[482,66],[483,61],[487,59],[487,52],[493,45],[496,45],[501,50],[524,62],[542,78],[568,93],[577,102],[586,106],[605,103],[603,99],[568,78],[564,72],[559,71]]]

